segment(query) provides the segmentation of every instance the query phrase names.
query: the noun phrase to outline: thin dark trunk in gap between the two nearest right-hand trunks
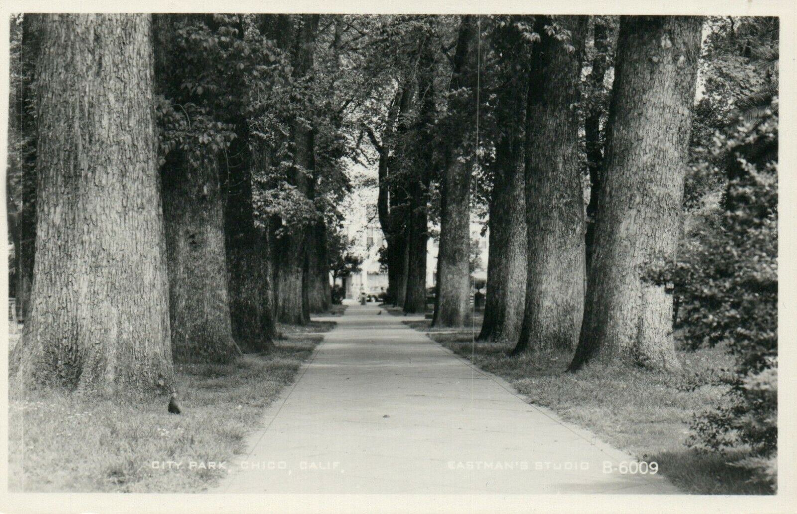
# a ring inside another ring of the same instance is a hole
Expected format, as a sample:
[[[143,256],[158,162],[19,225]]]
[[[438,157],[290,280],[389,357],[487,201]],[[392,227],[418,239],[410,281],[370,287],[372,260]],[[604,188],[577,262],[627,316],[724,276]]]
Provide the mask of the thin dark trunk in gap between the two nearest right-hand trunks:
[[[587,80],[591,81],[595,91],[599,91],[606,77],[607,48],[609,31],[599,18],[593,26],[595,37],[595,58],[592,60],[592,71]],[[587,168],[590,171],[590,201],[587,204],[587,234],[584,243],[587,247],[587,270],[592,264],[592,251],[595,247],[595,212],[598,211],[601,180],[600,168],[603,161],[603,142],[600,137],[601,105],[595,102],[591,111],[584,117],[584,138],[587,143]]]

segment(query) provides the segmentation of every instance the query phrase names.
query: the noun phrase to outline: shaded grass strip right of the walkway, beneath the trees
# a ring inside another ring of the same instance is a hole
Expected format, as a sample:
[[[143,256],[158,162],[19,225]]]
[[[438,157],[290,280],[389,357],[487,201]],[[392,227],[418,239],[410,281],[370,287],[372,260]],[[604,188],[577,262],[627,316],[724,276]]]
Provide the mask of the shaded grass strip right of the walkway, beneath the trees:
[[[471,343],[470,331],[428,330],[429,321],[406,322],[482,370],[504,378],[528,401],[553,409],[603,441],[659,469],[684,492],[697,494],[771,494],[767,484],[733,465],[744,453],[698,453],[685,445],[693,413],[719,405],[724,389],[709,382],[717,369],[732,366],[720,349],[680,352],[677,375],[645,370],[587,368],[567,373],[571,355],[528,354],[509,358],[512,345]],[[693,389],[695,385],[697,389]]]

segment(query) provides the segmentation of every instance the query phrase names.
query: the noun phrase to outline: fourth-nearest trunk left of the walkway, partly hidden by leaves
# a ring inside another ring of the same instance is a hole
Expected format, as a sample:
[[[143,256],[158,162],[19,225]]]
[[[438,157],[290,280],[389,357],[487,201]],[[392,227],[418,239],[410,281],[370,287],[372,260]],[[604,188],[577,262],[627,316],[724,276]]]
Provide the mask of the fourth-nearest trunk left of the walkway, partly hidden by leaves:
[[[318,28],[317,14],[304,14],[296,38],[294,73],[305,77],[312,73],[313,46]],[[296,119],[292,122],[293,163],[289,180],[307,195],[314,168],[312,127]],[[305,325],[310,321],[309,280],[306,229],[296,225],[277,241],[277,318],[281,322]]]

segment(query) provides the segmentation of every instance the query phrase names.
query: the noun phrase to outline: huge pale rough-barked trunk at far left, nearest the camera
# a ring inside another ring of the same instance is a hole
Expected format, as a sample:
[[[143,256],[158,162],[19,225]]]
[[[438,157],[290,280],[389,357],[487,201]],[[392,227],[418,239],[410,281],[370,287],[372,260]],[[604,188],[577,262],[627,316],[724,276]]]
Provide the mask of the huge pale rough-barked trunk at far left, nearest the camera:
[[[26,385],[175,386],[150,33],[143,14],[41,20],[36,279],[12,358]]]

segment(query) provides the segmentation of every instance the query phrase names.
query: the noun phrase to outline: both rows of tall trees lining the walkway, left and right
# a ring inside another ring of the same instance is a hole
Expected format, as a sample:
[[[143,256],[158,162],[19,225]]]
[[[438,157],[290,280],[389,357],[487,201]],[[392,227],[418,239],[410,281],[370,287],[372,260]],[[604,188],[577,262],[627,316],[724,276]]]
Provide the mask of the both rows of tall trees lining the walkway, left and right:
[[[439,237],[434,325],[468,322],[469,224],[481,215],[481,339],[574,352],[573,370],[674,369],[673,296],[682,319],[705,298],[651,269],[677,256],[685,207],[750,175],[726,173],[727,157],[706,148],[738,119],[728,105],[771,114],[776,74],[751,62],[774,51],[776,64],[772,26],[15,18],[8,204],[27,316],[14,369],[147,390],[171,380],[172,358],[268,350],[277,321],[328,309],[331,263],[355,268],[336,230],[348,160],[378,170],[390,302],[425,310],[426,246]]]

